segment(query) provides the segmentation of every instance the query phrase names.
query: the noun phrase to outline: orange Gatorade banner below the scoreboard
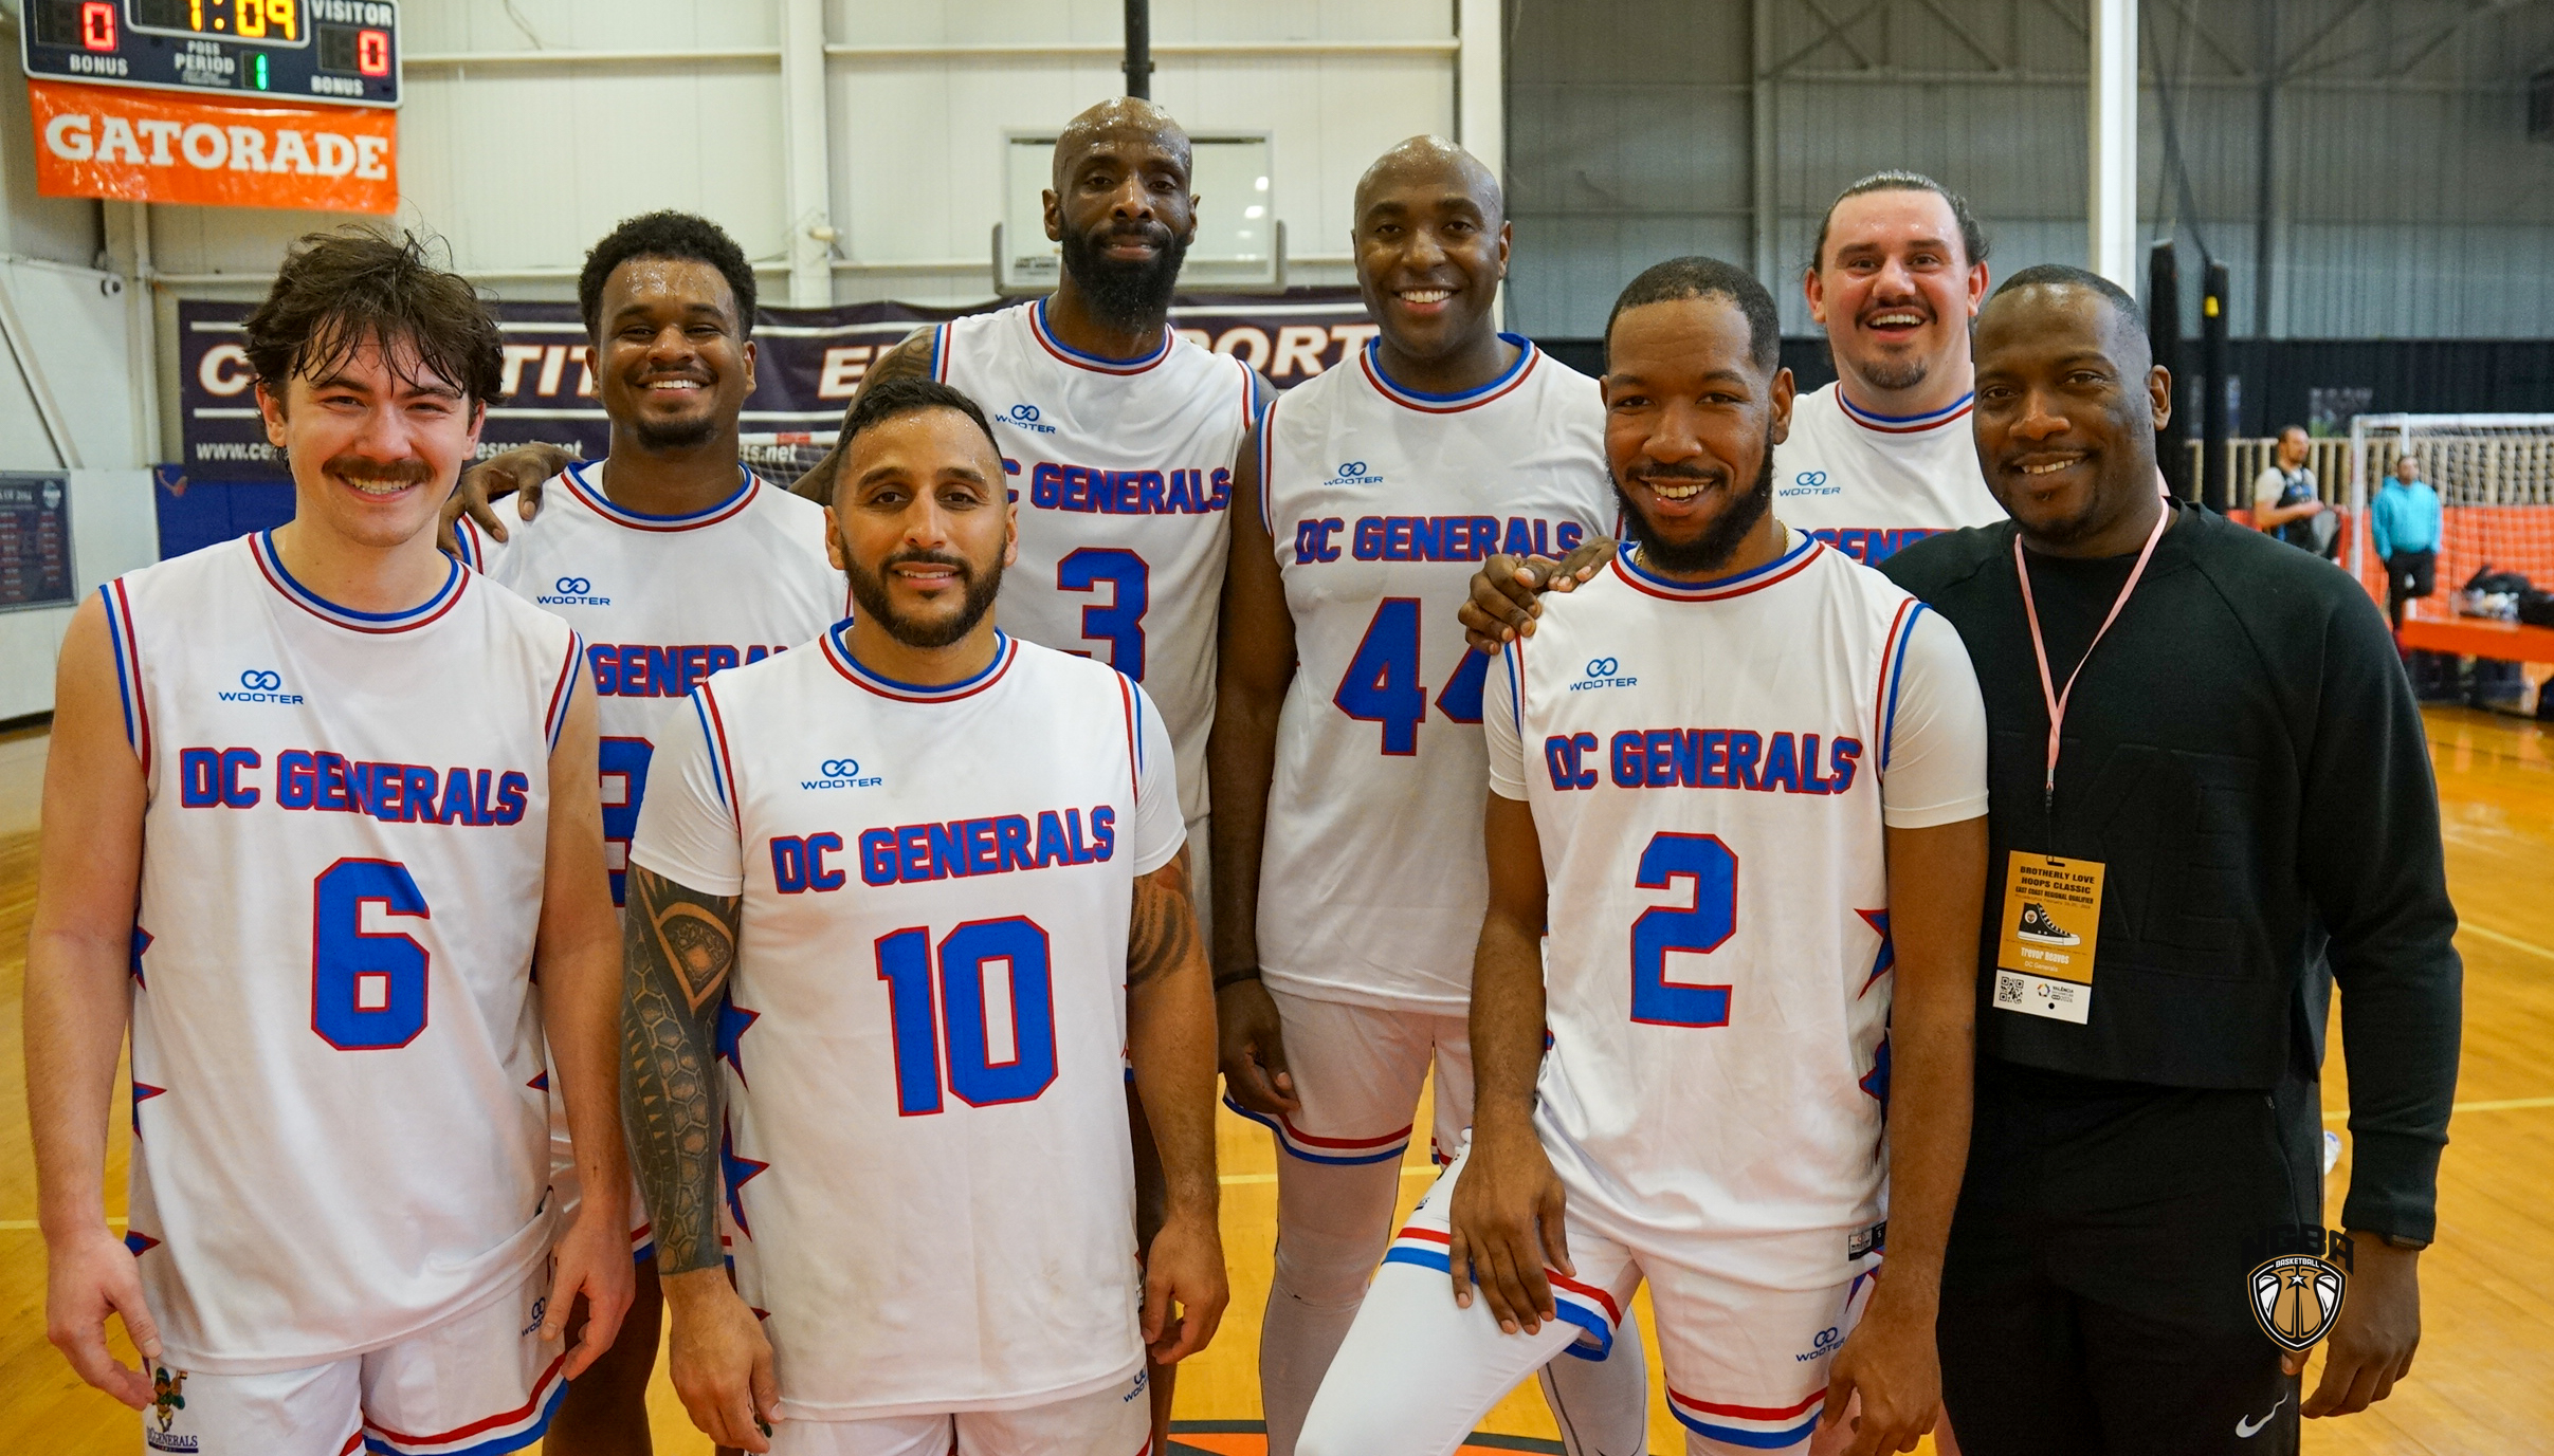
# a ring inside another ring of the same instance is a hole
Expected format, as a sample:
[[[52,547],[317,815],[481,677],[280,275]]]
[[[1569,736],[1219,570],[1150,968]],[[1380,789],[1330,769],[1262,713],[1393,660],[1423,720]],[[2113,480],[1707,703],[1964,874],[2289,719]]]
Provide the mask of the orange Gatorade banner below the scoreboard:
[[[204,105],[31,79],[36,192],[197,207],[398,209],[398,112]]]

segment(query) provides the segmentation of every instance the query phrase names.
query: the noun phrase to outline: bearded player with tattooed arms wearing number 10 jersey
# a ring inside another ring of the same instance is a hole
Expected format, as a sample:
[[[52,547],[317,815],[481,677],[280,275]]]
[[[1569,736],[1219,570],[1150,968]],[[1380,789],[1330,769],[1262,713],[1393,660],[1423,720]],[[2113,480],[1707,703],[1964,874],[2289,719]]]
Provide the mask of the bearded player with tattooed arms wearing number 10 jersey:
[[[1144,1356],[1203,1349],[1226,1300],[1170,733],[1121,672],[994,626],[1016,506],[973,401],[881,383],[840,460],[858,610],[692,690],[631,846],[623,1086],[674,1387],[746,1451],[1131,1456]],[[1167,1183],[1142,1267],[1129,1078]]]

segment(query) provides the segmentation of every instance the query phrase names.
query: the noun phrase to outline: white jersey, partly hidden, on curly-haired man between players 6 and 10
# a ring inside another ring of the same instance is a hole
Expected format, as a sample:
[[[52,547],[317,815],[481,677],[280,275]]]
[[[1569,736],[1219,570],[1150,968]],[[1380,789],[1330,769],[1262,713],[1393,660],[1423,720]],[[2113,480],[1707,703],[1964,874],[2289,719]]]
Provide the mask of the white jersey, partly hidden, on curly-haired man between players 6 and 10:
[[[603,731],[603,858],[613,904],[646,797],[656,723],[702,677],[815,641],[850,616],[850,582],[825,559],[825,508],[738,473],[736,493],[692,516],[644,516],[603,496],[595,465],[549,480],[552,503],[506,542],[455,521],[462,559],[564,618],[595,669]]]

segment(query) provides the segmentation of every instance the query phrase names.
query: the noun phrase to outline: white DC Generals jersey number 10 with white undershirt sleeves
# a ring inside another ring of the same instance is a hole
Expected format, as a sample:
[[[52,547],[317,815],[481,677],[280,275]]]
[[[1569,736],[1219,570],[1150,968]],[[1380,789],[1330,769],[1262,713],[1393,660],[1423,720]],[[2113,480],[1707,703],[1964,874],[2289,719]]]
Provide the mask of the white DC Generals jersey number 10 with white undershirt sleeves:
[[[1183,838],[1170,736],[1096,662],[1001,636],[907,687],[835,628],[692,692],[631,853],[743,897],[720,1162],[782,1410],[1134,1374],[1126,914]]]

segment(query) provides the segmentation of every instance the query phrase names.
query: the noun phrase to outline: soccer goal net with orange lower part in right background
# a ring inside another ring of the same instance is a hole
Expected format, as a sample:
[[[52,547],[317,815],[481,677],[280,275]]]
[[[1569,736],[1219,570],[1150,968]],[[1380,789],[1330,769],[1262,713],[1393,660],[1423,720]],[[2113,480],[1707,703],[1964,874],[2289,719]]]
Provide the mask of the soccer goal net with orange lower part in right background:
[[[2403,455],[2439,493],[2439,593],[2414,616],[2452,616],[2475,572],[2554,590],[2554,414],[2362,414],[2350,421],[2350,572],[2385,600],[2368,503]]]

